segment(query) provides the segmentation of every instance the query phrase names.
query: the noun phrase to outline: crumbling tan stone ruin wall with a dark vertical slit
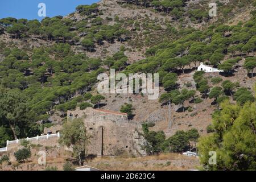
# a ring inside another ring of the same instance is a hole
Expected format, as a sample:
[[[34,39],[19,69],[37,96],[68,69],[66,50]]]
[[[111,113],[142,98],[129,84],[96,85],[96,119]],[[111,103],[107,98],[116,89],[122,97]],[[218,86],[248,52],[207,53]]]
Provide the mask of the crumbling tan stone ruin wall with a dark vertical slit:
[[[88,154],[144,155],[141,146],[146,142],[139,134],[141,125],[127,119],[127,114],[88,107],[68,111],[68,120],[82,118],[91,136]]]

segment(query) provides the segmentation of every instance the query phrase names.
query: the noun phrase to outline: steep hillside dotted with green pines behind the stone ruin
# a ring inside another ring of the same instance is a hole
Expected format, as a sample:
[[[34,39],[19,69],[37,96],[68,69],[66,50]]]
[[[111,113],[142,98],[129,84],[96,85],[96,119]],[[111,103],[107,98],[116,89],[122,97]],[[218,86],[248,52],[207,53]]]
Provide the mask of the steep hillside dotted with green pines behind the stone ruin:
[[[179,136],[216,131],[212,113],[223,101],[243,112],[255,100],[256,1],[216,3],[213,18],[209,1],[105,0],[41,22],[0,19],[0,147],[42,134],[78,106],[122,111],[144,123],[149,153],[182,152],[199,136],[176,147]],[[197,72],[201,62],[224,72]],[[159,73],[159,100],[99,95],[97,76],[110,68]]]

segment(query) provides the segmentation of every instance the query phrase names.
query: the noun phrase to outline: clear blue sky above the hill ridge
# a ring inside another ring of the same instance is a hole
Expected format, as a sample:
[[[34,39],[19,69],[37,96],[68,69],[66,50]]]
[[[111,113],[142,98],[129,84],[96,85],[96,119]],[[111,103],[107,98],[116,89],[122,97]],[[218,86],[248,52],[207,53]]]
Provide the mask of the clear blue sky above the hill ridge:
[[[38,4],[46,4],[46,16],[67,15],[78,5],[91,5],[99,0],[0,0],[0,19],[6,17],[43,19],[38,16]]]

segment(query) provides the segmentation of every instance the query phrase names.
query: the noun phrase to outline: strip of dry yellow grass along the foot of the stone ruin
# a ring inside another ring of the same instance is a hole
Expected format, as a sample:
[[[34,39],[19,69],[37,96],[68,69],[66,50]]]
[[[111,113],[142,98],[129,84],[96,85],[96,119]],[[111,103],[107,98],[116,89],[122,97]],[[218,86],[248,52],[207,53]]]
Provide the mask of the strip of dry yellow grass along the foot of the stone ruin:
[[[143,157],[102,157],[95,158],[86,163],[101,170],[188,170],[200,166],[195,157],[180,154],[161,154]]]

